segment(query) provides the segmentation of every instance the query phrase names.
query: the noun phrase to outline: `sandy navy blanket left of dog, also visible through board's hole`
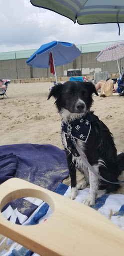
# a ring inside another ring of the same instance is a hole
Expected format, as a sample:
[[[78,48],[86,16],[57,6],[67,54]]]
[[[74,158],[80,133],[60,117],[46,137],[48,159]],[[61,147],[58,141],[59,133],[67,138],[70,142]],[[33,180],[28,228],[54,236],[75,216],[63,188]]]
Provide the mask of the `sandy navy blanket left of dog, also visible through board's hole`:
[[[18,177],[55,191],[69,175],[64,150],[50,145],[13,144],[0,146],[0,183]],[[18,198],[6,204],[2,214],[11,222],[22,224],[42,203],[32,197]]]

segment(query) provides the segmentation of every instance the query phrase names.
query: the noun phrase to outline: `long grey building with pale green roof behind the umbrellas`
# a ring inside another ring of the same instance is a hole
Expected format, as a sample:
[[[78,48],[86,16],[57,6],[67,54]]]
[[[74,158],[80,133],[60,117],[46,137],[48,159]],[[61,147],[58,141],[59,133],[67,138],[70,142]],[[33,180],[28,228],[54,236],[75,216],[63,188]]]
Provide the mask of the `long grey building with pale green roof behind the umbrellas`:
[[[95,72],[108,71],[117,73],[118,66],[116,61],[99,63],[97,55],[108,44],[116,41],[96,42],[76,45],[82,52],[81,56],[67,65],[57,66],[58,76],[67,76],[69,70],[82,70],[82,75],[94,75]],[[121,42],[121,41],[120,41]],[[7,79],[54,77],[50,73],[50,68],[31,68],[25,61],[37,49],[18,50],[10,52],[0,52],[0,77]],[[120,66],[124,66],[124,58],[119,60]]]

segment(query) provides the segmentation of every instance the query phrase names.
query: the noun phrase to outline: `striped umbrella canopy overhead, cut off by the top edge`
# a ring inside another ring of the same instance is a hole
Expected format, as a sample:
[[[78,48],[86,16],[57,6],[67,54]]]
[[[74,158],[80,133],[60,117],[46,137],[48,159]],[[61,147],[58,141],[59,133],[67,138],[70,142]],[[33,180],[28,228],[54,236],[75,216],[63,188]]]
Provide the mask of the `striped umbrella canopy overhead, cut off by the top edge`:
[[[30,0],[79,24],[124,22],[124,0]]]

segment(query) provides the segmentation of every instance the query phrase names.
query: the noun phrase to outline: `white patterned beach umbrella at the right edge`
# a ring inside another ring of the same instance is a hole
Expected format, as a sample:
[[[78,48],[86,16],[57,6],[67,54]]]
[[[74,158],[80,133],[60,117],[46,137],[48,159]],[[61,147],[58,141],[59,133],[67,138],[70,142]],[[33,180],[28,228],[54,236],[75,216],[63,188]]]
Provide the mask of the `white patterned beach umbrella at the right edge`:
[[[96,60],[99,62],[107,62],[107,61],[114,61],[117,60],[119,73],[121,76],[121,71],[119,67],[119,61],[118,59],[121,59],[124,57],[124,41],[114,42],[112,44],[108,44],[105,49],[103,49],[98,56],[96,57]]]

